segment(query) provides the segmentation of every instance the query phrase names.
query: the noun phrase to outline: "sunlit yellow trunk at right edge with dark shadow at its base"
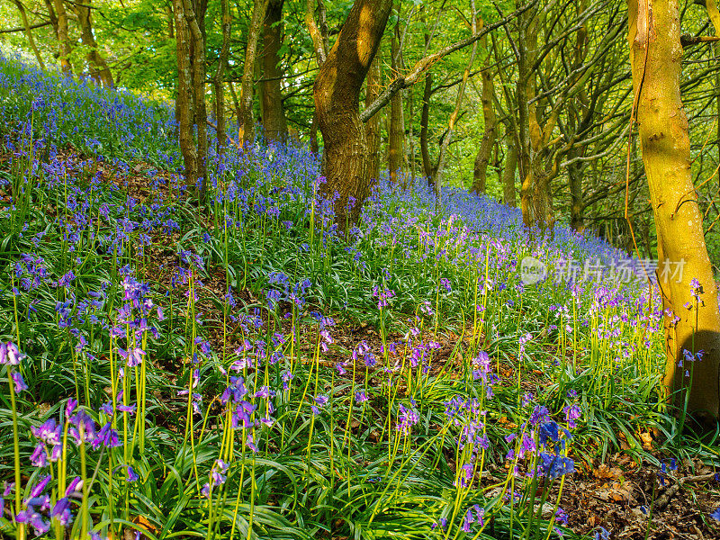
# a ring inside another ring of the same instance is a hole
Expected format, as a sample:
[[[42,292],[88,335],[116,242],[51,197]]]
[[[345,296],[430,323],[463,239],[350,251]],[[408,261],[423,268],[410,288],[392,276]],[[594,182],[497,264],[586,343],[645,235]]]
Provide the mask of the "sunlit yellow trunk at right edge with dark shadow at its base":
[[[665,261],[682,265],[680,276],[661,274],[659,279],[673,311],[666,320],[665,384],[680,410],[687,400],[687,410],[696,419],[715,423],[720,408],[720,312],[703,216],[690,175],[688,119],[680,99],[678,1],[629,0],[628,11],[639,138],[659,257],[661,266]],[[693,284],[695,290],[699,284],[699,300],[692,294]],[[686,350],[690,354],[702,350],[704,356],[689,362]]]

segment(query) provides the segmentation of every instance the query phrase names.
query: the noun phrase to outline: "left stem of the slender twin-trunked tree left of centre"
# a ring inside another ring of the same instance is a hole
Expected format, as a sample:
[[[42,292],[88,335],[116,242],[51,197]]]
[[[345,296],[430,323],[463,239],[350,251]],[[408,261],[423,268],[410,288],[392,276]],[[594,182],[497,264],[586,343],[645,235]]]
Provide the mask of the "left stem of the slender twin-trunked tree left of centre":
[[[194,188],[197,182],[197,148],[193,139],[192,80],[190,38],[184,18],[183,0],[173,0],[177,44],[177,97],[175,114],[178,123],[180,151],[183,154],[185,185]]]

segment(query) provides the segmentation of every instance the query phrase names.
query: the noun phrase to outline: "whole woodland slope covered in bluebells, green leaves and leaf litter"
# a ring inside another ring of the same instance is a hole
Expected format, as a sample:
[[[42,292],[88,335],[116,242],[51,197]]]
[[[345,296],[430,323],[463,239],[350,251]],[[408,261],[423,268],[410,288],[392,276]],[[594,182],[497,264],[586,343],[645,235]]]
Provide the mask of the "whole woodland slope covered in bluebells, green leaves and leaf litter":
[[[0,477],[57,500],[38,426],[68,426],[72,403],[115,429],[63,462],[100,480],[68,527],[117,536],[116,512],[147,540],[238,524],[259,540],[720,537],[717,437],[662,401],[657,297],[530,286],[518,264],[626,253],[561,226],[538,239],[464,190],[437,205],[425,182],[379,182],[338,238],[319,159],[293,146],[211,156],[211,214],[178,195],[170,111],[0,68],[0,338],[26,355],[6,368],[26,381],[12,411],[0,396],[21,439]],[[36,500],[15,505],[44,527]]]

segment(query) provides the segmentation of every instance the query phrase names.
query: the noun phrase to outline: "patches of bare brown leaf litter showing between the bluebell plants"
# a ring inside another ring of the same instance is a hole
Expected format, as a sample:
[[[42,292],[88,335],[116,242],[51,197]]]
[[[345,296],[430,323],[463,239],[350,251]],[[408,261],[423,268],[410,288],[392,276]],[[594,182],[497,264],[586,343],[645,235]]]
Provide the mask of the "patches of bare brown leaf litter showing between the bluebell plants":
[[[82,159],[82,157],[78,158]],[[149,164],[140,164],[136,166],[135,174],[124,175],[122,182],[117,181],[118,176],[112,171],[112,167],[106,170],[103,176],[115,180],[117,186],[124,193],[142,202],[149,194],[147,177],[142,175],[142,171],[153,168]],[[159,175],[168,174],[160,172]],[[168,195],[169,193],[164,194]],[[187,199],[187,195],[185,198]],[[211,223],[206,221],[205,225],[210,227]],[[176,238],[162,237],[158,239],[161,240],[161,243],[154,247],[153,257],[145,266],[146,273],[148,276],[153,275],[154,279],[169,288],[172,279],[169,268],[178,261],[176,253],[170,258],[166,254],[174,253],[172,242]],[[211,265],[207,270],[209,279],[204,281],[204,286],[220,296],[226,286],[224,270],[221,265]],[[181,291],[177,291],[175,294],[180,300]],[[247,302],[257,301],[256,293],[250,289],[240,291],[238,295]],[[221,311],[212,302],[205,302],[200,307],[205,311],[208,319],[222,319]],[[301,339],[302,350],[310,355],[314,347],[311,342],[312,338],[311,335],[306,335]],[[352,350],[358,341],[365,341],[374,354],[382,355],[383,342],[378,329],[368,325],[367,322],[358,323],[353,320],[344,320],[342,315],[339,315],[334,338],[338,348],[342,351]],[[388,340],[394,338],[400,339],[401,335],[387,336]],[[455,344],[459,339],[464,340],[465,343],[468,341],[467,337],[461,338],[449,329],[435,332],[431,336],[428,335],[428,338],[436,339],[439,344],[435,356],[437,364],[433,367],[436,372],[447,368],[445,363],[451,361]],[[211,335],[211,341],[215,347],[222,347],[222,335],[219,330]],[[557,354],[557,351],[555,353]],[[326,365],[335,365],[341,361],[340,354],[335,356],[338,357],[327,358]],[[166,367],[174,368],[172,365]],[[461,368],[462,366],[455,367]],[[450,369],[452,368],[453,366],[450,366]],[[500,372],[503,380],[513,381],[516,379],[516,373],[511,364],[501,363]],[[363,376],[363,373],[358,372],[356,379],[361,381]],[[528,392],[547,383],[543,372],[538,370],[524,372],[522,376],[520,384]],[[345,377],[347,378],[349,375],[346,374]],[[372,378],[372,374],[370,383],[371,385],[378,383]],[[505,419],[505,421],[508,420]],[[619,432],[618,439],[621,448],[608,453],[604,459],[577,460],[575,473],[565,480],[560,506],[568,514],[569,527],[580,535],[590,535],[600,540],[604,536],[599,532],[599,527],[608,530],[608,537],[613,539],[709,540],[720,537],[717,536],[717,527],[713,525],[708,527],[707,519],[708,514],[720,506],[720,492],[718,492],[720,473],[699,459],[686,459],[676,463],[671,455],[658,447],[658,443],[662,443],[662,433],[656,429],[637,433],[636,436],[642,441],[645,456],[652,456],[657,463],[663,464],[662,470],[653,466],[647,459],[638,464],[637,460],[633,458],[633,455],[636,456],[636,451],[625,452],[629,446],[624,434]],[[582,454],[586,456],[598,453],[599,447],[597,446],[582,449]],[[504,465],[505,470],[508,467],[509,464]],[[500,473],[499,477],[507,472],[502,471],[500,465],[490,465],[490,474],[483,475],[481,486],[492,486],[499,482],[499,478],[492,476],[493,470]],[[492,495],[493,491],[489,491],[489,493]],[[541,486],[538,488],[538,496],[542,493]],[[547,500],[555,501],[557,493],[558,488],[554,486],[546,494]],[[543,516],[549,518],[552,515],[554,504],[546,502],[545,507]],[[490,531],[489,534],[492,535],[492,532]],[[347,537],[338,536],[337,538],[343,540]]]

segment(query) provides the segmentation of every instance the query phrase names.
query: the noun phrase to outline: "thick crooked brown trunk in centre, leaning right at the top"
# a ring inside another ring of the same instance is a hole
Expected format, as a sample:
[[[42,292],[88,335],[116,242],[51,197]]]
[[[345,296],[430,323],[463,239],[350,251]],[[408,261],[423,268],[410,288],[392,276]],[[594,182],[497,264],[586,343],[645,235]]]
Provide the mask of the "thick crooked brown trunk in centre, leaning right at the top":
[[[356,0],[315,79],[315,111],[325,144],[321,192],[328,197],[338,193],[335,220],[340,231],[356,222],[368,193],[360,90],[391,9],[392,0]]]

